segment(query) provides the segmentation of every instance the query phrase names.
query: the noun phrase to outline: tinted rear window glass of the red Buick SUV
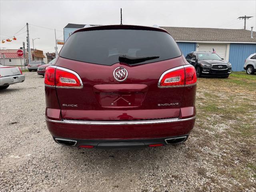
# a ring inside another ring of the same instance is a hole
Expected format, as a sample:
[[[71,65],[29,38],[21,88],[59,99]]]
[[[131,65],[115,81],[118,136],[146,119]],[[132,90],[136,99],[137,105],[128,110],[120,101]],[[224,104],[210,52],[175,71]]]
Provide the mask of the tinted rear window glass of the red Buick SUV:
[[[166,32],[150,30],[94,30],[76,32],[64,44],[60,56],[82,62],[113,65],[120,54],[158,56],[145,64],[181,56],[178,45]]]

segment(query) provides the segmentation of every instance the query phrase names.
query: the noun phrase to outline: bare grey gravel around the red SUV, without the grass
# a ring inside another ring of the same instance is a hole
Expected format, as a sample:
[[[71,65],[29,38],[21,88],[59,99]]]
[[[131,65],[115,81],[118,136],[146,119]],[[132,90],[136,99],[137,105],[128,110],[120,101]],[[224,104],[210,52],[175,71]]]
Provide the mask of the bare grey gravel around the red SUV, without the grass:
[[[201,124],[196,124],[187,142],[177,146],[90,150],[56,144],[44,120],[44,79],[35,72],[24,74],[25,82],[0,91],[1,192],[256,191],[253,167],[242,165],[247,171],[245,182],[230,174],[240,170],[235,163],[239,159],[225,158],[236,151],[244,156],[248,151],[236,148],[246,148],[246,143],[222,148],[222,138],[217,142]],[[199,82],[199,90],[200,86]],[[203,93],[199,91],[202,98]],[[212,126],[220,135],[229,128],[225,122]],[[255,165],[255,137],[253,141],[246,158]]]

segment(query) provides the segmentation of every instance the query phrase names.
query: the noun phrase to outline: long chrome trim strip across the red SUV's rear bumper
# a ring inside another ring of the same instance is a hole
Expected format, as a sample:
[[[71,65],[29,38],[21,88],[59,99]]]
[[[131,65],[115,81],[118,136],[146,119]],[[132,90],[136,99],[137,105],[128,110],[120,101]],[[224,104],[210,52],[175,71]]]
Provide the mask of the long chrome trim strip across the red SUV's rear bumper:
[[[130,120],[130,121],[85,121],[85,120],[51,120],[46,118],[46,121],[53,123],[62,123],[62,124],[77,124],[77,125],[145,125],[145,124],[161,124],[161,123],[173,123],[173,122],[183,122],[189,121],[196,118],[196,116],[179,119],[179,118],[169,118],[169,119],[154,119],[154,120]]]

